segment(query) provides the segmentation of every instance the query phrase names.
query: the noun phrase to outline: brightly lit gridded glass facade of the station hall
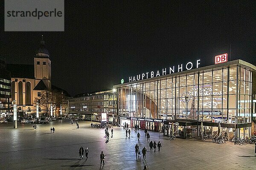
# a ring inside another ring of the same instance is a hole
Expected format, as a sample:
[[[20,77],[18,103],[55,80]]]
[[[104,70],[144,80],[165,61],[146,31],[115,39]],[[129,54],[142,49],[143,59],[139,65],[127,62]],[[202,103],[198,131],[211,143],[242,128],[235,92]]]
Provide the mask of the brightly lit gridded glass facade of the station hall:
[[[114,86],[119,117],[203,122],[213,127],[221,123],[228,132],[236,128],[237,136],[250,134],[254,69],[241,64],[214,66]],[[239,124],[244,126],[240,130]]]

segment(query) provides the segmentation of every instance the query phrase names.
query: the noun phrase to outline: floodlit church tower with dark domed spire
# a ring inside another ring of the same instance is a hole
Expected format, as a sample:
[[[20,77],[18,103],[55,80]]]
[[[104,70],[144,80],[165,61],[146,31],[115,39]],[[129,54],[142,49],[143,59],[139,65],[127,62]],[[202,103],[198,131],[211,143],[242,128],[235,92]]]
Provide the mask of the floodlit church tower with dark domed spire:
[[[44,48],[45,42],[42,35],[40,41],[40,48],[36,51],[34,56],[34,71],[35,79],[44,81],[44,84],[48,89],[51,89],[51,79],[52,79],[52,69],[51,60],[49,59],[49,53],[46,48]]]

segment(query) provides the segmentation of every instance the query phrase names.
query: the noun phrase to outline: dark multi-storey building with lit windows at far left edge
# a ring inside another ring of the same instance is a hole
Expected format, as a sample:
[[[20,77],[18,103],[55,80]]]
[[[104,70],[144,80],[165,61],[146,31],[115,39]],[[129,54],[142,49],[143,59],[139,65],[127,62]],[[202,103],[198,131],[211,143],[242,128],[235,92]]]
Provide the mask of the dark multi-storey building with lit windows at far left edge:
[[[6,59],[0,57],[0,116],[8,116],[12,102],[11,99],[11,77],[6,70]]]

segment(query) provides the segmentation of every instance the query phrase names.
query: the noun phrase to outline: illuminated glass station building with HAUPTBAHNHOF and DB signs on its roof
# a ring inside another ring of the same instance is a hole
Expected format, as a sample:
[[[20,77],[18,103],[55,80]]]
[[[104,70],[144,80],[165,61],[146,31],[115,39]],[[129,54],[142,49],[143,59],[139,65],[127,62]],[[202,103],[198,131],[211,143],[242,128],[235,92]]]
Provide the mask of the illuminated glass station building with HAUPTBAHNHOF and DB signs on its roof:
[[[229,139],[253,135],[256,67],[240,59],[223,62],[224,55],[226,59],[215,57],[215,65],[200,67],[198,59],[114,85],[121,126],[126,122],[168,136],[173,128],[176,137],[193,138],[203,122],[204,132],[212,137],[219,125]]]

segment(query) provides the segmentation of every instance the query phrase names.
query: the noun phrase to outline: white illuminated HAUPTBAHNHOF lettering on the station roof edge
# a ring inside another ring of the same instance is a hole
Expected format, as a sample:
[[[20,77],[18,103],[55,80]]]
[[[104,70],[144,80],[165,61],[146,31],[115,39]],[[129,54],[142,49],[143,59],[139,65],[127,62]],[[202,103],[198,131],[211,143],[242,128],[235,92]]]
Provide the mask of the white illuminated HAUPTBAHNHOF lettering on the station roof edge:
[[[169,67],[169,68],[163,68],[160,71],[159,70],[157,70],[156,72],[150,71],[150,72],[138,74],[137,76],[130,76],[129,82],[149,79],[149,78],[158,77],[158,76],[164,76],[166,74],[173,74],[175,72],[181,72],[184,70],[191,70],[192,68],[195,68],[195,67],[198,68],[198,66],[200,65],[200,61],[201,61],[200,59],[196,60],[195,66],[193,65],[193,62],[187,62],[186,65],[179,64],[176,68],[173,65],[172,67]]]

